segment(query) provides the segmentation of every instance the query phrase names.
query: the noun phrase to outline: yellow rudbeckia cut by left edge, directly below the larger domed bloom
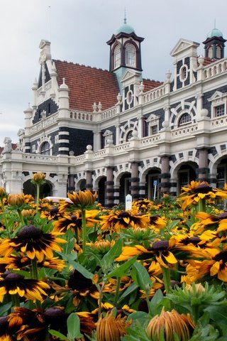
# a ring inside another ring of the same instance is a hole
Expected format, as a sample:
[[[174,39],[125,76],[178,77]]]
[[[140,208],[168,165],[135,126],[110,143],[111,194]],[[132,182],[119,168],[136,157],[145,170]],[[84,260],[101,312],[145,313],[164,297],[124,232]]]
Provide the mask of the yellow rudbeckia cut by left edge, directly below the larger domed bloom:
[[[6,271],[0,277],[0,302],[3,302],[6,294],[28,298],[32,301],[43,301],[43,296],[47,296],[43,289],[50,286],[43,282],[16,273]],[[43,296],[42,296],[43,295]]]

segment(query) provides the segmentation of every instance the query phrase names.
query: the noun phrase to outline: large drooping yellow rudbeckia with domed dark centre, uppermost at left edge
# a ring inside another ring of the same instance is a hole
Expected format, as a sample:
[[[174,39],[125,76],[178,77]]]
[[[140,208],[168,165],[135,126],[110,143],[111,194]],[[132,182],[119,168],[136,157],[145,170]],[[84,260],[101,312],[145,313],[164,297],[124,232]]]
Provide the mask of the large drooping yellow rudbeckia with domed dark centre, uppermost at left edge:
[[[60,232],[44,233],[33,225],[26,225],[18,232],[16,238],[4,239],[0,244],[0,255],[9,256],[13,251],[21,251],[28,258],[43,261],[45,256],[51,259],[53,251],[62,251],[58,243],[67,243],[65,239],[57,238]]]

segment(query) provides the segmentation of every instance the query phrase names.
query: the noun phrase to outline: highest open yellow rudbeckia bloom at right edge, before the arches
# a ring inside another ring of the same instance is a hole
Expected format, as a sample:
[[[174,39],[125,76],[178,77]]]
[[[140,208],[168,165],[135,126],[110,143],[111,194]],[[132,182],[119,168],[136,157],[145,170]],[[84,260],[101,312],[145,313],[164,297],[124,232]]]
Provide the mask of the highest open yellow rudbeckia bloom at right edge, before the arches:
[[[217,188],[212,188],[206,181],[191,181],[188,187],[182,187],[182,193],[177,198],[182,202],[182,209],[189,205],[196,205],[201,199],[226,199],[227,193]]]

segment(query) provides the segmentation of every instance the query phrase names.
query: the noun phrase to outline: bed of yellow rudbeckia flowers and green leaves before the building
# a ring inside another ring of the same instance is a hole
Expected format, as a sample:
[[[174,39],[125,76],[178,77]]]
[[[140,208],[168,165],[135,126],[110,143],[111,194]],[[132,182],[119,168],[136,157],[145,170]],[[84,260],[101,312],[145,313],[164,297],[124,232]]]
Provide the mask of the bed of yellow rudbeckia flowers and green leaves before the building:
[[[0,188],[0,341],[227,340],[226,186],[122,210],[43,183]]]

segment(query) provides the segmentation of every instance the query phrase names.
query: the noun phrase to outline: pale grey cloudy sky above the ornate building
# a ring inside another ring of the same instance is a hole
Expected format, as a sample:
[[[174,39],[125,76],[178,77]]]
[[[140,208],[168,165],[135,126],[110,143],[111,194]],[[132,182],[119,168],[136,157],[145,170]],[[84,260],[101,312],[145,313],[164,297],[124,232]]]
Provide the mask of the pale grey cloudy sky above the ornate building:
[[[0,146],[18,141],[23,111],[33,105],[40,40],[51,42],[52,58],[109,69],[109,40],[123,23],[145,40],[143,77],[165,80],[170,51],[180,38],[201,43],[214,28],[227,38],[226,0],[0,0]],[[227,55],[227,53],[226,53]]]

